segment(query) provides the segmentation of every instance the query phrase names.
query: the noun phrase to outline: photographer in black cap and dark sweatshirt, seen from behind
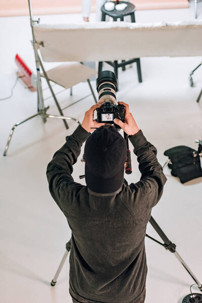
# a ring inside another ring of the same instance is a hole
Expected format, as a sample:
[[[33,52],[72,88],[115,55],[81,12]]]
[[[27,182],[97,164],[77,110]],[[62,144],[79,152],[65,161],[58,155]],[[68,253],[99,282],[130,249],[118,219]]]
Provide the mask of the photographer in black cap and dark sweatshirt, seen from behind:
[[[69,281],[74,303],[143,303],[145,298],[145,230],[166,177],[157,149],[138,129],[129,106],[119,104],[126,108],[125,123],[114,122],[133,144],[140,181],[128,185],[124,179],[126,143],[121,134],[93,120],[103,102],[85,113],[47,167],[49,190],[72,231]],[[71,174],[86,139],[84,186]]]

